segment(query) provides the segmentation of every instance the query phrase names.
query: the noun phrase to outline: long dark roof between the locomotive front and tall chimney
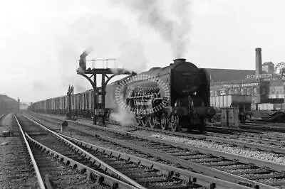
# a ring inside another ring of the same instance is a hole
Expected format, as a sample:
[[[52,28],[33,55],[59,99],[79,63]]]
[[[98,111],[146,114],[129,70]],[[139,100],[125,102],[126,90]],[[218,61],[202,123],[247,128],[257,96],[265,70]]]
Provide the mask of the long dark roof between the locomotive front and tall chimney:
[[[255,75],[255,70],[206,69],[211,75],[211,82],[244,80],[247,75]]]

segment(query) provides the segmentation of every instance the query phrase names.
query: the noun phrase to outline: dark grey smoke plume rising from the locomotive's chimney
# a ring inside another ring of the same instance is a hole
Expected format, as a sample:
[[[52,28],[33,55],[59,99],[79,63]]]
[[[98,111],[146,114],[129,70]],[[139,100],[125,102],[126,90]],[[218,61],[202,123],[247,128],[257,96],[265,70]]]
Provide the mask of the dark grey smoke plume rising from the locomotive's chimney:
[[[185,55],[190,34],[190,0],[171,1],[170,11],[161,9],[166,1],[113,0],[112,2],[127,6],[138,15],[139,23],[155,29],[163,40],[170,43],[175,58]]]

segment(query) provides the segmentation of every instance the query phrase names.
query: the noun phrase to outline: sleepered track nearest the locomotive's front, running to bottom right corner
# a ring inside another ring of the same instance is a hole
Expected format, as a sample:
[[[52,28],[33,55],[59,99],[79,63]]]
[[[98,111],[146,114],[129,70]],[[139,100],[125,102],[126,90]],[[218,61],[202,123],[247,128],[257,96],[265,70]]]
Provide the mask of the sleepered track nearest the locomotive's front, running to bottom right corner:
[[[80,124],[76,121],[70,121],[70,123],[75,125],[71,126],[74,129],[78,129],[78,124]],[[282,173],[284,166],[281,164],[154,139],[130,132],[113,131],[100,126],[81,124],[80,128],[86,137],[97,136],[92,138],[93,141],[103,140],[113,142],[113,145],[128,146],[128,148],[150,154],[162,161],[178,163],[179,166],[198,173],[212,174],[212,176],[234,183],[247,183],[252,188],[268,188],[269,185],[282,188],[285,185],[284,173]],[[94,131],[94,129],[96,130]],[[271,180],[274,180],[274,183]]]

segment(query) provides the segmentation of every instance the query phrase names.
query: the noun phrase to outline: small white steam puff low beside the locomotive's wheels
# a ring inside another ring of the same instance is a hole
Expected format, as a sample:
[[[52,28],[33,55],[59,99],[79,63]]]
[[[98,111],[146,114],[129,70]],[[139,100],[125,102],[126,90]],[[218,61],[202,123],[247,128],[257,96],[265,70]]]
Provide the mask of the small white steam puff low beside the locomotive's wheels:
[[[135,114],[127,111],[127,109],[119,108],[118,112],[110,114],[110,120],[117,121],[120,125],[127,126],[135,124]]]

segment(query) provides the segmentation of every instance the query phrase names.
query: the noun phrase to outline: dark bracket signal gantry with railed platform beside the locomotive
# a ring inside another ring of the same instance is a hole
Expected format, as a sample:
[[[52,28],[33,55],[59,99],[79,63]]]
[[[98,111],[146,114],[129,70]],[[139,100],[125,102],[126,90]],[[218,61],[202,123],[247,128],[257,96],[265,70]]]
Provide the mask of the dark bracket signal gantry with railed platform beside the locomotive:
[[[115,59],[96,59],[96,60],[87,60],[91,62],[91,68],[86,70],[86,56],[89,54],[87,50],[85,50],[79,60],[79,68],[77,70],[78,75],[82,75],[86,77],[86,79],[90,82],[93,87],[93,124],[97,124],[97,117],[102,117],[102,124],[105,125],[105,87],[108,82],[115,77],[115,75],[135,75],[135,72],[130,72],[123,68],[116,68],[116,60]],[[102,61],[103,68],[95,68],[95,62]],[[115,68],[108,68],[108,62],[113,61],[115,63]],[[104,66],[105,65],[105,66]],[[106,68],[104,68],[106,67]],[[101,75],[101,90],[98,91],[97,87],[97,75]],[[102,98],[101,106],[98,107],[97,97],[100,95]]]

